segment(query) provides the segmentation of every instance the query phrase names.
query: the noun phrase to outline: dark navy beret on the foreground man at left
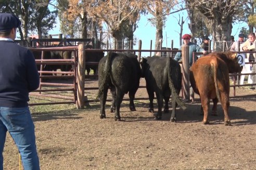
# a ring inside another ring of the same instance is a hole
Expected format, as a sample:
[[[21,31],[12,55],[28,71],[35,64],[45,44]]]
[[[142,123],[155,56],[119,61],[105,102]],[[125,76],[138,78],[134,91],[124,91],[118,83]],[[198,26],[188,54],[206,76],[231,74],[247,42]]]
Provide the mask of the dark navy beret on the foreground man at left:
[[[0,32],[9,31],[21,25],[20,20],[11,13],[0,14]]]

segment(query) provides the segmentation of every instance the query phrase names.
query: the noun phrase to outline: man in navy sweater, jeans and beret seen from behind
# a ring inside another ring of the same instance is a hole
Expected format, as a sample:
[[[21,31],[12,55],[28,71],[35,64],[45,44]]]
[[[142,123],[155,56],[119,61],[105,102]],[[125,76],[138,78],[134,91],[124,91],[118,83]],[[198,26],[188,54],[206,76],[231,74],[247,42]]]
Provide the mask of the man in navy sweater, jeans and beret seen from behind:
[[[6,133],[14,139],[25,170],[40,169],[34,123],[28,107],[29,92],[39,88],[39,74],[32,52],[14,43],[20,20],[0,14],[0,170]]]

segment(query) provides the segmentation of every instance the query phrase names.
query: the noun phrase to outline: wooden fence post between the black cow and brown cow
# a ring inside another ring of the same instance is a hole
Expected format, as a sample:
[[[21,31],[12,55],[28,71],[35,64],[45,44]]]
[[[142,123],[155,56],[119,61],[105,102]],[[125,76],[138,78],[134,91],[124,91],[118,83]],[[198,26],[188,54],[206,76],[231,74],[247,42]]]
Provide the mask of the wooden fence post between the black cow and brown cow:
[[[185,101],[190,100],[189,94],[189,48],[188,45],[182,46],[182,91],[183,91],[183,99]]]

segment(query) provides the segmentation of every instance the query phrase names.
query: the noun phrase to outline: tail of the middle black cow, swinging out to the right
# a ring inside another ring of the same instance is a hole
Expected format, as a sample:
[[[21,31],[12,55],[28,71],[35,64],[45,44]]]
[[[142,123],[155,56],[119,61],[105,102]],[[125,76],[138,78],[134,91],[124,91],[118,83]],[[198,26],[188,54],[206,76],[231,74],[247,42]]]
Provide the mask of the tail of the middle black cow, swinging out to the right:
[[[168,81],[169,81],[169,88],[172,92],[172,100],[175,100],[175,102],[183,109],[185,110],[187,107],[185,106],[185,103],[181,101],[181,99],[178,97],[178,94],[174,88],[173,81],[171,78],[171,58],[168,56],[167,58],[167,69],[168,69]]]

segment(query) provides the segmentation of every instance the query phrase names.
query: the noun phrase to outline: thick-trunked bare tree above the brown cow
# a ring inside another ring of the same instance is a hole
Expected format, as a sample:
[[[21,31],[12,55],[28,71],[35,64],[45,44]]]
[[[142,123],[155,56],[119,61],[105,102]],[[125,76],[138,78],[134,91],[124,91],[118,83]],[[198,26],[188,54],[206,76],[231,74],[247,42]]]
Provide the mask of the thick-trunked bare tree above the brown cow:
[[[248,0],[187,0],[190,8],[195,8],[206,17],[206,25],[211,30],[214,41],[223,41],[231,38],[233,16],[239,7]]]

